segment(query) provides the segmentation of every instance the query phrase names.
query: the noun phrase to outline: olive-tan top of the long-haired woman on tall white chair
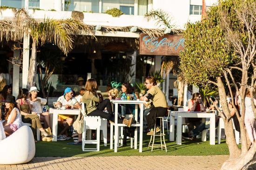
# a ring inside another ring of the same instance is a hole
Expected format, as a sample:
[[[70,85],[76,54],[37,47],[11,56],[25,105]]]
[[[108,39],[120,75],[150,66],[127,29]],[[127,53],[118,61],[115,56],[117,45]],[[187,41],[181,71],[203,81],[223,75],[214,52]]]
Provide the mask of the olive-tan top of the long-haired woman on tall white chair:
[[[86,104],[86,111],[87,114],[89,114],[97,109],[97,104],[100,102],[100,99],[92,92],[85,91],[82,97],[82,102]]]

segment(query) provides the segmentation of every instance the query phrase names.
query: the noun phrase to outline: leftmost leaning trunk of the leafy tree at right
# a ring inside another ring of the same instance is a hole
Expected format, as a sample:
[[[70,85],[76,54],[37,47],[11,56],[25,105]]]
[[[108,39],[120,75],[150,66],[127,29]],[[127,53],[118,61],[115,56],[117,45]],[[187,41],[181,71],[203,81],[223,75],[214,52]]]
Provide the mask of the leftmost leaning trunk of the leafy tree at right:
[[[226,134],[226,143],[229,147],[229,159],[234,159],[241,154],[241,150],[236,145],[233,123],[230,117],[229,107],[226,101],[226,92],[224,85],[222,83],[221,77],[217,78],[218,90],[220,95],[220,103],[222,105],[223,116],[224,116],[224,127],[225,127],[225,134]]]

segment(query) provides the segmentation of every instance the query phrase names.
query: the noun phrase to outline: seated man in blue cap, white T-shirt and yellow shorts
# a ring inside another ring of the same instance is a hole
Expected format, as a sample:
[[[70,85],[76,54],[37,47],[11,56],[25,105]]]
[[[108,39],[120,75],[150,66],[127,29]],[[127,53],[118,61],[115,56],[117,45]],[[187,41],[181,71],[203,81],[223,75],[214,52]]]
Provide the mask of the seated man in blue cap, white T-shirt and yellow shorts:
[[[66,108],[70,108],[71,105],[74,105],[74,108],[80,108],[79,102],[73,97],[74,93],[71,88],[66,88],[64,94],[58,98],[57,105],[65,106]],[[67,129],[69,126],[73,124],[74,116],[68,114],[59,114],[58,123],[60,124],[66,120],[66,126],[61,131],[60,135],[58,136],[58,140],[66,140],[67,139]],[[60,124],[61,125],[61,124]],[[64,134],[65,133],[65,134]],[[64,135],[63,135],[64,134]]]

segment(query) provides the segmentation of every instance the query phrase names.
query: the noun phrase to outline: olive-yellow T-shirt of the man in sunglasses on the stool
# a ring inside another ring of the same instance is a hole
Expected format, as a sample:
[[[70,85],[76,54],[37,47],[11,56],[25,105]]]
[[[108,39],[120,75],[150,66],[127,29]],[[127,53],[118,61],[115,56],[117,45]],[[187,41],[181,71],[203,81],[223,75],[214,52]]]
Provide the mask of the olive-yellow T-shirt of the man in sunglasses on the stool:
[[[148,89],[147,93],[153,95],[151,100],[153,101],[153,105],[155,107],[167,107],[168,106],[164,93],[157,85],[152,86],[152,88]]]

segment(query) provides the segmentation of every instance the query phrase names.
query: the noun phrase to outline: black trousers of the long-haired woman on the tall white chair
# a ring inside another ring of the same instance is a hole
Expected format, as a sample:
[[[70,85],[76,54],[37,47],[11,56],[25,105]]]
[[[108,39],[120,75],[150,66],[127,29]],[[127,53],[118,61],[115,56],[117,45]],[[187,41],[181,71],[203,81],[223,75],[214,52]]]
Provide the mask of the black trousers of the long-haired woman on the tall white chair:
[[[103,112],[105,107],[107,107],[108,113]],[[88,116],[100,116],[101,118],[115,122],[115,115],[112,112],[112,106],[109,99],[105,99],[101,103],[99,103],[97,109],[89,113]],[[123,120],[118,118],[118,123],[122,123],[122,122]]]

